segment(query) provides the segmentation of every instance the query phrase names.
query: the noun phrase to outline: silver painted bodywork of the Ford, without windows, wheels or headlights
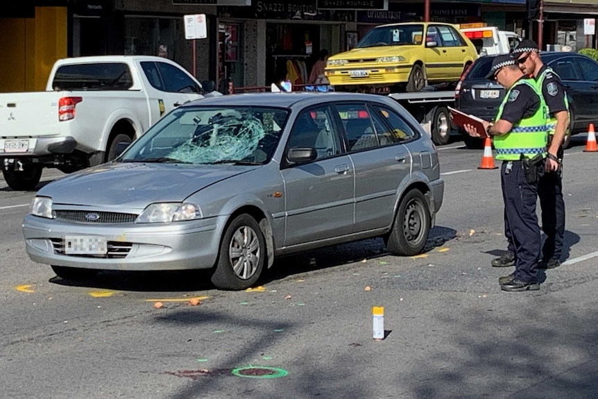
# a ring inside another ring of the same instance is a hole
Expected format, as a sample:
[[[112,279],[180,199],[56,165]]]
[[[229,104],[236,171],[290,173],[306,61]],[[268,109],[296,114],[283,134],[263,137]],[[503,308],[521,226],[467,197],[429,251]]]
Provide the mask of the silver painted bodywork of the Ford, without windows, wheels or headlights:
[[[337,103],[368,103],[393,110],[416,137],[405,144],[363,151],[345,147],[330,158],[289,164],[285,144],[293,126],[299,124],[298,115],[314,106]],[[53,219],[33,214],[24,219],[31,259],[78,269],[210,269],[216,264],[228,223],[234,215],[246,213],[259,221],[264,232],[269,267],[275,255],[388,234],[400,199],[413,188],[425,194],[433,223],[444,191],[436,148],[418,122],[392,99],[349,93],[239,94],[203,99],[178,110],[229,105],[288,110],[269,162],[179,164],[120,162],[117,158],[73,173],[37,193],[51,198]],[[160,122],[146,135],[159,128]],[[135,223],[148,205],[169,202],[196,203],[200,217]],[[107,253],[65,253],[65,237],[74,235],[100,237],[106,241]]]

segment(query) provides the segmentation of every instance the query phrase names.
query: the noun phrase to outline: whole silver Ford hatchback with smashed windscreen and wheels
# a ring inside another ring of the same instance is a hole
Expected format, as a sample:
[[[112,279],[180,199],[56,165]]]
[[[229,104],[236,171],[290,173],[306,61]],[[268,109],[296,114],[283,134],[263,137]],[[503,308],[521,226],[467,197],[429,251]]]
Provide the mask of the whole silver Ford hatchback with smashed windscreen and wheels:
[[[65,279],[212,269],[246,289],[275,257],[368,237],[416,255],[443,202],[438,153],[386,96],[217,96],[166,114],[112,162],[37,192],[26,251]]]

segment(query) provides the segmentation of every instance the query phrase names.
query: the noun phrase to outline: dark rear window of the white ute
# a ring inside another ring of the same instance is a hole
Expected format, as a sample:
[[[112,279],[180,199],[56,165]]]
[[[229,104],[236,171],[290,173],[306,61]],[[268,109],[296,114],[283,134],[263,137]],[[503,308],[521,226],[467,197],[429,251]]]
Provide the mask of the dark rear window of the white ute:
[[[133,86],[128,65],[120,62],[62,65],[53,90],[128,90]]]

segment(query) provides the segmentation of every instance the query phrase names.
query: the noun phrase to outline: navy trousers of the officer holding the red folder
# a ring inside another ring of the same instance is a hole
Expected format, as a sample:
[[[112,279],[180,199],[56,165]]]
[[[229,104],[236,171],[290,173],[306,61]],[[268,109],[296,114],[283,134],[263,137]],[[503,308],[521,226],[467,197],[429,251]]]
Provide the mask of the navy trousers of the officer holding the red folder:
[[[538,259],[540,257],[540,226],[536,215],[538,182],[525,180],[521,161],[513,161],[513,167],[506,173],[509,162],[503,162],[500,169],[502,196],[504,199],[505,226],[509,230],[515,253],[515,278],[524,282],[538,282]],[[544,169],[538,164],[538,176]]]

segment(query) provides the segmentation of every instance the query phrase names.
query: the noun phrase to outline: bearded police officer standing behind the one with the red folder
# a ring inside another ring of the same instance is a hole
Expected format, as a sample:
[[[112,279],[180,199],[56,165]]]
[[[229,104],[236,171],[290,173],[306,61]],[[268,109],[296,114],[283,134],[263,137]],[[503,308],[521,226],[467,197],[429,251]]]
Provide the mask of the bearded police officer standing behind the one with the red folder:
[[[549,121],[545,173],[538,182],[542,230],[546,235],[542,247],[541,269],[553,269],[561,264],[565,243],[565,201],[563,199],[563,141],[569,128],[569,103],[561,78],[542,62],[538,45],[523,40],[511,51],[524,74],[533,76],[546,102]],[[492,261],[493,266],[515,264],[513,244],[505,229],[509,246],[506,253]]]

